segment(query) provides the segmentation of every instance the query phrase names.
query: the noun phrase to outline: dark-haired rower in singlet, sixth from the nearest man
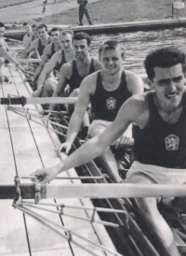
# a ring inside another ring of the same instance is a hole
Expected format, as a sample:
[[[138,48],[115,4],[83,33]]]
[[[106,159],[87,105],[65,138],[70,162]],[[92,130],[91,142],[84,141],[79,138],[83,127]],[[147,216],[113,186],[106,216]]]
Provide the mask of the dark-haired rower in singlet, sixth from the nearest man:
[[[33,50],[38,51],[38,58],[41,58],[43,56],[43,51],[46,47],[46,45],[50,44],[52,42],[51,36],[47,34],[47,26],[46,24],[40,24],[37,26],[37,35],[39,36],[38,39],[35,39],[32,43],[29,49],[25,50],[26,57],[32,52]]]

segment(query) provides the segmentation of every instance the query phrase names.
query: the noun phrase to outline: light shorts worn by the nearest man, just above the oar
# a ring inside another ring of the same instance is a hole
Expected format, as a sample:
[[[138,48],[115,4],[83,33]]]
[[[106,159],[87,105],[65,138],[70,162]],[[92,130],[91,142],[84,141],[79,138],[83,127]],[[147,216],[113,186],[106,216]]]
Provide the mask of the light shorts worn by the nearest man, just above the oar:
[[[157,184],[185,184],[186,169],[171,169],[151,164],[140,164],[135,161],[126,174],[127,179],[138,174]]]

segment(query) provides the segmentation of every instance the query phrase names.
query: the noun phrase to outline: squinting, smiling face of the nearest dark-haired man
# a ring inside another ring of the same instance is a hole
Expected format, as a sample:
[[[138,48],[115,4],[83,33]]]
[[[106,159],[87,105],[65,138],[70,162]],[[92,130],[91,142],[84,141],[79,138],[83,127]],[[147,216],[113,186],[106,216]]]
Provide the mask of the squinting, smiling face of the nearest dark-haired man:
[[[156,92],[157,102],[170,110],[179,107],[185,83],[181,64],[171,67],[156,66],[153,70],[155,76],[152,86]]]

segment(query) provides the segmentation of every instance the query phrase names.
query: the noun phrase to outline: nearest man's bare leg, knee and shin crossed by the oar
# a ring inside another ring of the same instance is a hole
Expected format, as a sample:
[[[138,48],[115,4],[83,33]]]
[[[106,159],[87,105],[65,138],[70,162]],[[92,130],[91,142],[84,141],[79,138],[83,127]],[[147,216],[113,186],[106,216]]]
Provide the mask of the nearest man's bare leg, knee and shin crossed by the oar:
[[[148,178],[141,177],[140,175],[133,175],[127,179],[128,183],[139,184],[152,184],[152,181]],[[145,185],[144,185],[145,186]],[[166,223],[166,220],[162,217],[157,209],[156,198],[135,198],[135,202],[140,210],[140,216],[149,229],[153,232],[153,236],[159,243],[159,249],[161,249],[161,255],[164,256],[179,256],[179,251],[174,242],[173,234]]]

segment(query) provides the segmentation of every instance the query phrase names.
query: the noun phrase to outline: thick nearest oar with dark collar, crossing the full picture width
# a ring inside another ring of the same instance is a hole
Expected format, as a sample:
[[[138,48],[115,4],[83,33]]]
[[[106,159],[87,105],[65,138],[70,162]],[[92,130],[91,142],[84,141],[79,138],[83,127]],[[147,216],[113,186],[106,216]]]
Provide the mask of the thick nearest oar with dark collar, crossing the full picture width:
[[[31,177],[32,178],[32,177]],[[17,195],[15,185],[1,185],[0,199]],[[37,185],[38,190],[38,185]],[[35,197],[35,184],[20,184],[22,199]],[[45,198],[122,198],[122,197],[178,197],[186,196],[186,185],[160,184],[83,184],[41,185],[41,199]]]

